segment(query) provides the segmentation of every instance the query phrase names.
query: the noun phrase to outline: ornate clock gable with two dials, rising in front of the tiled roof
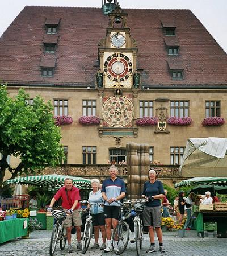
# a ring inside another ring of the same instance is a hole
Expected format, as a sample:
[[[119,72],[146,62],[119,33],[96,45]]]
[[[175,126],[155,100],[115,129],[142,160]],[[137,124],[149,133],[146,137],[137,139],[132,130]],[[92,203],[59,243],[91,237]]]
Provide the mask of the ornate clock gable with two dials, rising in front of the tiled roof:
[[[138,48],[127,27],[128,14],[117,5],[108,16],[106,36],[100,40],[98,47],[103,87],[131,89]]]

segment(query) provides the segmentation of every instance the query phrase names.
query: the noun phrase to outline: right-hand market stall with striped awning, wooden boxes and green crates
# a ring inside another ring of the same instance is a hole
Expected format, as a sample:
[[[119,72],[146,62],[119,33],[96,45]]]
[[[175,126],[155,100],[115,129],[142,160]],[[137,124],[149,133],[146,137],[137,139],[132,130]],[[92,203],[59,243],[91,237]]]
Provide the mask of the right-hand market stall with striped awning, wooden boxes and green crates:
[[[183,180],[175,184],[175,188],[183,186],[203,185],[207,191],[215,192],[215,188],[220,187],[220,191],[227,189],[227,177],[195,177]],[[193,191],[193,188],[192,188]],[[212,205],[200,205],[196,217],[196,230],[200,236],[204,237],[227,237],[227,203],[215,203]]]

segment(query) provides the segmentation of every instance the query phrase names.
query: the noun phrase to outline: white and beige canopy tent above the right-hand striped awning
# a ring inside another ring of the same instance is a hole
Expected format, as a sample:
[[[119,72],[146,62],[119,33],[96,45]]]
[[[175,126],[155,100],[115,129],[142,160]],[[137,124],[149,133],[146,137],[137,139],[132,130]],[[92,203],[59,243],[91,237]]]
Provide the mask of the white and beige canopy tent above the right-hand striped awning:
[[[180,165],[180,174],[184,177],[226,176],[227,139],[188,139]]]

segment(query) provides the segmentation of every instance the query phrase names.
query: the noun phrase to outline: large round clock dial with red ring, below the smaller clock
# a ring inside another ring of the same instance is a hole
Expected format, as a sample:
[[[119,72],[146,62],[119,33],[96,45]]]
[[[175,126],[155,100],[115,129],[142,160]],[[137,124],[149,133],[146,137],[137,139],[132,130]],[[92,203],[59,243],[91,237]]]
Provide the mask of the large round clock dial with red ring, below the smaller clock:
[[[123,53],[113,53],[104,62],[104,73],[113,82],[123,82],[132,75],[132,61]]]

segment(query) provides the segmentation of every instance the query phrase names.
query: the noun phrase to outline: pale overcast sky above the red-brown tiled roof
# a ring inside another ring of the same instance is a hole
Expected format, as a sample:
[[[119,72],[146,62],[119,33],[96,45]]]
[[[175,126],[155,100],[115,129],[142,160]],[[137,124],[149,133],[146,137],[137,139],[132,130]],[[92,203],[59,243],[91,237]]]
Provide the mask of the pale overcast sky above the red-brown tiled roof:
[[[120,7],[140,9],[190,9],[227,52],[226,0],[118,0]],[[0,0],[0,35],[24,6],[102,7],[102,0]]]

